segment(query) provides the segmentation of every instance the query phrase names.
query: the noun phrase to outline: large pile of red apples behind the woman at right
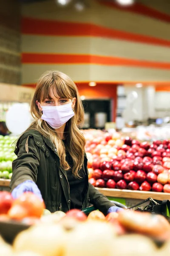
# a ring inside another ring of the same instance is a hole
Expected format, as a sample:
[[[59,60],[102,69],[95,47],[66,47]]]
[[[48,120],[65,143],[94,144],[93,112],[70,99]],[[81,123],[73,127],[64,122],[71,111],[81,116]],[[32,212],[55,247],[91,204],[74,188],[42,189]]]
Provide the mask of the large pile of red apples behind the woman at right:
[[[94,186],[170,193],[170,140],[139,142],[102,131],[85,137]]]

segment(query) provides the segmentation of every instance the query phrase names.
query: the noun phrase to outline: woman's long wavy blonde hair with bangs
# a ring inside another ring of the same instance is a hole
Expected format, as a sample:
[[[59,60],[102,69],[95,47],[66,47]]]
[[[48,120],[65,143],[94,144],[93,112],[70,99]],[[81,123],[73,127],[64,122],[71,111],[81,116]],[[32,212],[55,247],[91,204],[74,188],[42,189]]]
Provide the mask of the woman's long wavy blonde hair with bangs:
[[[74,107],[74,116],[66,123],[65,134],[67,149],[73,159],[72,173],[74,177],[79,177],[78,172],[82,167],[85,152],[85,137],[82,131],[79,130],[80,125],[84,121],[84,108],[79,97],[77,86],[70,77],[59,71],[47,71],[40,77],[31,101],[31,114],[35,121],[29,128],[34,128],[52,141],[58,151],[60,166],[65,170],[69,170],[70,166],[65,160],[65,145],[57,135],[55,129],[51,128],[47,122],[41,119],[41,113],[36,104],[36,101],[42,102],[45,99],[50,99],[49,92],[51,89],[54,95],[57,93],[61,98],[73,99],[76,97],[77,99]]]

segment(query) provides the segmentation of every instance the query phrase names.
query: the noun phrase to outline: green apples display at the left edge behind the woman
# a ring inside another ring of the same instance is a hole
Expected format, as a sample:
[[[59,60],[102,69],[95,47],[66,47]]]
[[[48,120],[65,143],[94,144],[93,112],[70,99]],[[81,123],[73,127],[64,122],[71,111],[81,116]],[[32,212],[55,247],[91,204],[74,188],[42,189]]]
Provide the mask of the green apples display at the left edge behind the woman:
[[[15,140],[15,137],[0,135],[0,178],[11,179],[12,161],[16,158],[12,146]]]

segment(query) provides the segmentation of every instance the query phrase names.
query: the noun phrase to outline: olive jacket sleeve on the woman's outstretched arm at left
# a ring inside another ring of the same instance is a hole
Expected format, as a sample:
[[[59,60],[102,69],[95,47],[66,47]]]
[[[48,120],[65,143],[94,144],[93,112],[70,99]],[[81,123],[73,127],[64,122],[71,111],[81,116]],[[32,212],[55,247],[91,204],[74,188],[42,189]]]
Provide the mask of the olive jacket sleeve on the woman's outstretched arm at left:
[[[11,190],[26,180],[36,182],[37,168],[40,164],[39,148],[33,137],[25,138],[19,142],[16,151],[17,159],[12,162]]]

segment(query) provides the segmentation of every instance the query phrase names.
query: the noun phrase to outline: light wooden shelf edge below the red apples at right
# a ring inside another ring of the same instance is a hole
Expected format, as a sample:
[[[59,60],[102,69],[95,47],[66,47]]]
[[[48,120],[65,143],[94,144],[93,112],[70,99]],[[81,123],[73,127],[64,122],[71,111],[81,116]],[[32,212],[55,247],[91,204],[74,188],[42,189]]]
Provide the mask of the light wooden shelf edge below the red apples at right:
[[[170,200],[170,193],[163,192],[151,192],[151,191],[137,191],[137,190],[127,190],[127,189],[102,189],[96,188],[103,195],[113,198],[132,198],[132,199],[146,199],[153,198],[157,200]]]

